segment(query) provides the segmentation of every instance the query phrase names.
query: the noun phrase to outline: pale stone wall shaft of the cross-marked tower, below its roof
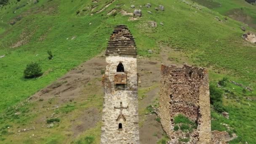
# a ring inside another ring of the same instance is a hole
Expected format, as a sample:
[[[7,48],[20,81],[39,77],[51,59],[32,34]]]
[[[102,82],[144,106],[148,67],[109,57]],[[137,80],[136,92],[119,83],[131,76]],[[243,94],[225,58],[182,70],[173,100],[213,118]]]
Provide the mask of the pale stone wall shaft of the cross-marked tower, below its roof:
[[[129,55],[111,55],[106,57],[106,62],[101,144],[139,144],[137,59]],[[115,88],[115,75],[120,62],[127,77],[124,90]],[[126,108],[121,112],[115,107]],[[122,129],[118,129],[119,123],[122,123]]]

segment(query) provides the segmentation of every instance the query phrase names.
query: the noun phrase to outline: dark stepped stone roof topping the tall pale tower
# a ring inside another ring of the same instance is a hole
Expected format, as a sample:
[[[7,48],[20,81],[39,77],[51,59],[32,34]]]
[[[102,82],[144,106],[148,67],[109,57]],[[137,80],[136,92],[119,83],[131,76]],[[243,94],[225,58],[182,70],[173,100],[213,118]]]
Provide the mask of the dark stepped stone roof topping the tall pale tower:
[[[113,34],[110,36],[106,56],[111,54],[137,55],[135,41],[125,25],[116,26]]]

